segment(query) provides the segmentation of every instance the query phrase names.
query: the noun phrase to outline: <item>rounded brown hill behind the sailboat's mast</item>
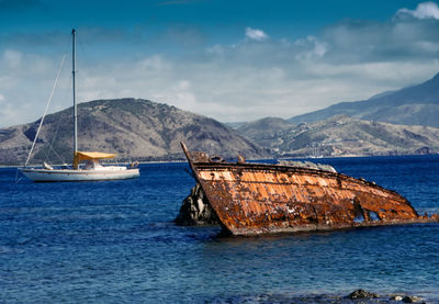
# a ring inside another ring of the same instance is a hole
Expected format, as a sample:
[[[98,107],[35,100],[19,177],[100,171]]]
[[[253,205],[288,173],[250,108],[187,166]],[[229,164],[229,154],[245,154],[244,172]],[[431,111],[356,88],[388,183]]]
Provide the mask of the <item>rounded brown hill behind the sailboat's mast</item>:
[[[72,108],[47,115],[34,164],[72,158]],[[0,130],[0,164],[24,165],[40,120]],[[167,104],[140,99],[94,100],[78,104],[79,150],[116,153],[120,159],[183,159],[180,142],[191,150],[227,158],[268,157],[268,151],[219,122]]]

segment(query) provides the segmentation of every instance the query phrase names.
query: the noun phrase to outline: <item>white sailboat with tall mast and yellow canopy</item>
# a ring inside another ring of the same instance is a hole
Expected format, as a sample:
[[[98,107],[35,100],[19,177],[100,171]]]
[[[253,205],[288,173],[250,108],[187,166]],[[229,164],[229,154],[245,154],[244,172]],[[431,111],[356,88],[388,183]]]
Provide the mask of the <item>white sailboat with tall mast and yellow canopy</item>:
[[[77,124],[77,104],[76,104],[76,30],[71,31],[72,36],[72,97],[74,97],[74,161],[72,166],[63,166],[54,168],[44,164],[42,168],[26,167],[30,160],[32,149],[35,145],[44,116],[41,121],[38,132],[35,135],[34,145],[27,157],[26,164],[20,171],[30,180],[35,182],[54,181],[98,181],[98,180],[120,180],[131,179],[139,176],[139,169],[135,164],[130,166],[103,166],[100,159],[113,158],[115,154],[99,151],[79,151],[78,150],[78,124]]]

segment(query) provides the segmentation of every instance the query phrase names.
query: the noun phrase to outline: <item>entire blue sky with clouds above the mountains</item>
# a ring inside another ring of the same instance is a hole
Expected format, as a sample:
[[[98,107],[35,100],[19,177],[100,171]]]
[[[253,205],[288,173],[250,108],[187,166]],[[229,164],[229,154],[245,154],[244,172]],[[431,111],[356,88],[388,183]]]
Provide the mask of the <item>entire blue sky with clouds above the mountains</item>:
[[[236,122],[425,81],[438,25],[435,1],[0,0],[0,127],[42,115],[72,27],[80,102],[143,98]],[[52,112],[71,103],[69,69]]]

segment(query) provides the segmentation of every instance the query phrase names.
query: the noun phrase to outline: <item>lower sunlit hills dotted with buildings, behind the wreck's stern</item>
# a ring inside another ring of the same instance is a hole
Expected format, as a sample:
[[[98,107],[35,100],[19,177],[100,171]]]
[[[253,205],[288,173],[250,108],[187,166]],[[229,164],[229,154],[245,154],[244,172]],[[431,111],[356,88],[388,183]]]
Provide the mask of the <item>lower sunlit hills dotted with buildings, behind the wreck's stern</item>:
[[[263,119],[238,133],[279,157],[375,156],[439,153],[439,128],[393,125],[336,115],[315,123]]]

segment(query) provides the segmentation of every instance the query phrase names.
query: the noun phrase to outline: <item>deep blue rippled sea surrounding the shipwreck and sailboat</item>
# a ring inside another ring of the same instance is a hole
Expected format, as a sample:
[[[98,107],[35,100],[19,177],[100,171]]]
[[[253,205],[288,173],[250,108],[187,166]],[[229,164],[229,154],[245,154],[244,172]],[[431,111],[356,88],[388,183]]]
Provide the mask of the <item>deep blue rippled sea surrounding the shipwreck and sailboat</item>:
[[[439,212],[439,156],[318,159]],[[187,164],[140,178],[14,183],[0,169],[0,303],[288,303],[409,293],[439,303],[439,224],[226,237],[172,221]],[[290,300],[289,300],[290,299]]]

